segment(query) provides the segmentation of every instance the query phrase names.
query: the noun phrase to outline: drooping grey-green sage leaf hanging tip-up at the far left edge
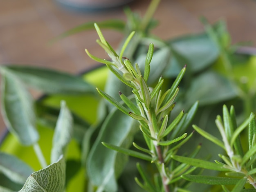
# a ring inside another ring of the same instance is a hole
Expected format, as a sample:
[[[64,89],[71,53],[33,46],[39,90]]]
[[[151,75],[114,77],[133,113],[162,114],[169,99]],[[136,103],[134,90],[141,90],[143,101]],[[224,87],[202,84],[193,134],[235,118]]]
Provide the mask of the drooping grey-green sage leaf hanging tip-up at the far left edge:
[[[2,74],[2,115],[9,131],[21,144],[32,145],[39,139],[35,128],[34,103],[24,85],[12,75]]]

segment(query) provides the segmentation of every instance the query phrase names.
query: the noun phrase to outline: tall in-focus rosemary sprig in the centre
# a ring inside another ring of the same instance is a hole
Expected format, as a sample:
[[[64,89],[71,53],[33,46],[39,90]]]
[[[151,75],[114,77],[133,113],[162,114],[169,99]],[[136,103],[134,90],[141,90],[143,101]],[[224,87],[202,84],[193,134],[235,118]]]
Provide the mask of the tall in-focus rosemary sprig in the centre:
[[[129,58],[123,56],[123,53],[135,32],[130,33],[124,42],[123,47],[121,48],[120,54],[118,55],[105,40],[97,24],[95,24],[95,29],[100,38],[100,40],[97,40],[97,43],[108,53],[111,61],[97,58],[90,54],[87,49],[85,49],[86,53],[95,61],[105,63],[108,69],[110,69],[110,71],[112,71],[112,73],[115,74],[119,80],[131,87],[132,93],[136,98],[136,103],[134,104],[127,96],[119,92],[121,100],[123,100],[128,107],[127,109],[110,95],[106,94],[100,89],[97,90],[101,96],[115,105],[115,107],[117,107],[121,112],[124,112],[126,115],[139,121],[138,128],[143,133],[148,149],[140,147],[136,143],[132,143],[132,145],[140,152],[111,145],[105,142],[102,142],[102,144],[112,150],[154,163],[159,171],[159,175],[162,180],[161,184],[155,183],[155,185],[153,185],[139,164],[137,167],[142,179],[144,180],[144,183],[141,183],[138,178],[135,178],[135,181],[139,186],[141,186],[141,188],[147,191],[169,192],[171,190],[169,185],[179,179],[179,174],[192,172],[194,170],[194,168],[188,170],[185,165],[181,165],[174,170],[170,170],[170,164],[172,162],[171,155],[177,152],[177,149],[192,136],[192,133],[188,137],[187,133],[183,133],[182,135],[172,139],[167,137],[175,126],[180,123],[184,115],[184,110],[182,110],[171,123],[168,122],[170,113],[175,106],[174,100],[179,92],[178,85],[184,76],[186,66],[183,67],[171,88],[167,89],[166,92],[163,92],[162,89],[162,85],[164,83],[162,77],[159,78],[155,87],[150,87],[147,84],[147,80],[150,76],[150,61],[153,57],[154,51],[153,43],[150,43],[149,45],[144,71],[142,72],[137,63],[135,63],[135,67],[133,67],[134,65],[132,65]],[[197,103],[195,103],[195,109],[197,108],[196,106]],[[196,111],[195,109],[193,109],[193,113]],[[173,146],[172,144],[176,142],[180,142],[180,144]],[[176,172],[179,172],[179,174]],[[174,189],[175,187],[172,188],[172,191]]]

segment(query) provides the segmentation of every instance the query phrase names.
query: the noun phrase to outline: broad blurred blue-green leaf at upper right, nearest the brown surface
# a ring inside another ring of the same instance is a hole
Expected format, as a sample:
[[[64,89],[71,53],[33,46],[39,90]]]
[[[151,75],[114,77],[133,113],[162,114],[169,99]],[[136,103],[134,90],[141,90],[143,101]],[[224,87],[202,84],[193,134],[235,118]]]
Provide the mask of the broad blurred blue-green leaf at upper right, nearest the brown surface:
[[[166,69],[165,77],[175,77],[186,64],[193,72],[209,67],[218,58],[219,51],[206,33],[183,36],[167,42],[173,58]]]

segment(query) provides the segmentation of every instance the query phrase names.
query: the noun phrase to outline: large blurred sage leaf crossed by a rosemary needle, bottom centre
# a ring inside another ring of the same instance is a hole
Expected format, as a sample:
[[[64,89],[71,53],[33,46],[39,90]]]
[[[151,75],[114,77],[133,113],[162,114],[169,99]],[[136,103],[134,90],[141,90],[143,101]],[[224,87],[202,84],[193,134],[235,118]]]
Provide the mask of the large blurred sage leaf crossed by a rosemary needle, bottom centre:
[[[137,121],[118,109],[112,111],[103,123],[97,140],[94,142],[87,159],[87,170],[90,181],[98,190],[117,191],[116,178],[121,174],[128,161],[128,156],[110,150],[101,142],[128,148],[133,135],[139,130]]]

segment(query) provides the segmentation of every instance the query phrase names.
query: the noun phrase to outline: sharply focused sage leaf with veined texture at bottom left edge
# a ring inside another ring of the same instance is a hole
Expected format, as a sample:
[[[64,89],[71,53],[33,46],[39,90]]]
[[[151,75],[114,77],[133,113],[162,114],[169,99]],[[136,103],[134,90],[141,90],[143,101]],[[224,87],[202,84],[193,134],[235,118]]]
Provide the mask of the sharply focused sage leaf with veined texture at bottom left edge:
[[[63,192],[65,171],[66,164],[62,155],[56,163],[32,173],[19,192]]]

